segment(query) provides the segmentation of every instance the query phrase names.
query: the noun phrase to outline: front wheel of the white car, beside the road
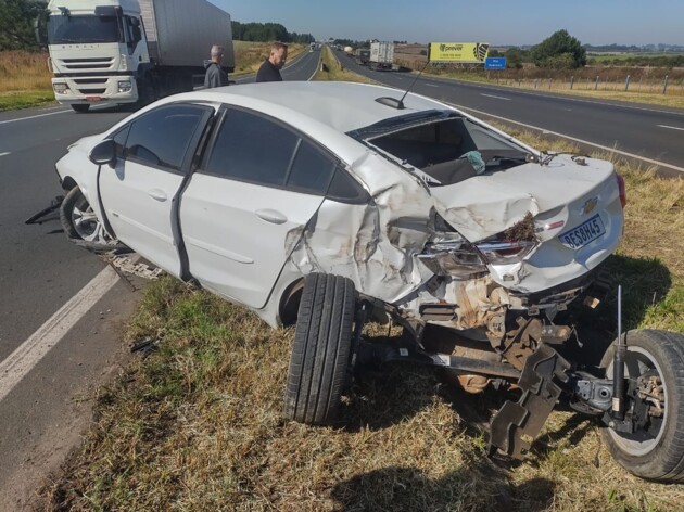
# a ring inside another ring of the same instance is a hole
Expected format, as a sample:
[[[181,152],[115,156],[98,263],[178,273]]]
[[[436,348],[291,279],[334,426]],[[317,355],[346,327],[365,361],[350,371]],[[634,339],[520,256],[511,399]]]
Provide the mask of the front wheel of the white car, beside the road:
[[[124,247],[105,231],[78,187],[74,187],[62,201],[60,220],[71,240],[83,242],[83,245],[90,249],[110,251]]]

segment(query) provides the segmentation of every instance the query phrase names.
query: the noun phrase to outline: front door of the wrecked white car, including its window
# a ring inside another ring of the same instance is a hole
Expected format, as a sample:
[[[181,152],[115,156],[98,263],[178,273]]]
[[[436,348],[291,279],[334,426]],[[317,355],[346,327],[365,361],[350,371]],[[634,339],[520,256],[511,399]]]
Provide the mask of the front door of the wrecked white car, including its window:
[[[115,133],[117,161],[102,169],[100,196],[118,240],[174,276],[181,274],[176,195],[212,110],[163,105]]]

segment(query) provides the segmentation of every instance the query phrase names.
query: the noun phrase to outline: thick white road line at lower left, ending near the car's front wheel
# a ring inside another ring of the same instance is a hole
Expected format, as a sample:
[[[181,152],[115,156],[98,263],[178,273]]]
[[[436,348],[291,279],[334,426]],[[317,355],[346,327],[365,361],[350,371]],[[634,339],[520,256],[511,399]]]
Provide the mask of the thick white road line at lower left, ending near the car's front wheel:
[[[0,400],[54,347],[64,335],[118,281],[113,268],[106,267],[80,292],[74,295],[28,340],[0,362]]]

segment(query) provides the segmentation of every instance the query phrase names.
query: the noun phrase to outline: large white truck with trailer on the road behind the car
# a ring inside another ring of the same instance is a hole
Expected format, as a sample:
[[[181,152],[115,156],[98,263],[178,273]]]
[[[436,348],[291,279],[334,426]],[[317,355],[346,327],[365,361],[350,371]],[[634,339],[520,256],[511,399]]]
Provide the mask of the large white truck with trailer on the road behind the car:
[[[230,14],[206,0],[51,0],[37,35],[56,101],[76,112],[190,91],[213,44],[235,67]]]

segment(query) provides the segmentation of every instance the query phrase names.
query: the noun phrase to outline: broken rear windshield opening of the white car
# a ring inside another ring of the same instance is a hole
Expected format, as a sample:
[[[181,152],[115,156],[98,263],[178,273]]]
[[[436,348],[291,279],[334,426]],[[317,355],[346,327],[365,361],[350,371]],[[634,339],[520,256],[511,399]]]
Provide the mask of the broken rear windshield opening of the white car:
[[[431,187],[534,159],[525,148],[452,111],[394,117],[349,135],[420,169]]]

